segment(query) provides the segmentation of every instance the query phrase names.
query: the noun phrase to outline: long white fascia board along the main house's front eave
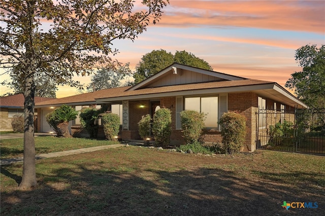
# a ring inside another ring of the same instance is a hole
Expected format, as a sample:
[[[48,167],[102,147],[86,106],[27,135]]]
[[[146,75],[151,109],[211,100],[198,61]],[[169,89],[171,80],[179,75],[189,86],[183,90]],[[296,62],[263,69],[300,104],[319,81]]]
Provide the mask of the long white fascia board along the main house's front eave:
[[[112,98],[100,98],[96,99],[96,102],[111,102],[116,100],[140,100],[140,99],[151,99],[159,97],[172,97],[172,96],[188,96],[188,95],[203,95],[203,94],[219,94],[219,93],[231,93],[231,92],[247,92],[262,89],[272,89],[273,83],[262,84],[262,85],[251,85],[251,86],[236,86],[236,87],[223,87],[223,88],[210,88],[210,89],[196,89],[196,90],[185,90],[185,91],[173,91],[163,93],[152,93],[142,95],[130,95]]]

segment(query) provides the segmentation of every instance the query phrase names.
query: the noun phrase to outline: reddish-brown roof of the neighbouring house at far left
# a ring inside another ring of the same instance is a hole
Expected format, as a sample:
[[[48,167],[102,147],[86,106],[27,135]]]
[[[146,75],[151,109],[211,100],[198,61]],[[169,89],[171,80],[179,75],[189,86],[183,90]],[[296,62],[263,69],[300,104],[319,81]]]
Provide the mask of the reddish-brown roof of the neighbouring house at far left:
[[[42,102],[42,101],[48,101],[53,100],[55,98],[51,97],[35,97],[35,103]],[[14,94],[9,95],[6,97],[0,97],[0,106],[1,107],[7,107],[7,108],[23,108],[24,107],[24,95],[23,94]]]

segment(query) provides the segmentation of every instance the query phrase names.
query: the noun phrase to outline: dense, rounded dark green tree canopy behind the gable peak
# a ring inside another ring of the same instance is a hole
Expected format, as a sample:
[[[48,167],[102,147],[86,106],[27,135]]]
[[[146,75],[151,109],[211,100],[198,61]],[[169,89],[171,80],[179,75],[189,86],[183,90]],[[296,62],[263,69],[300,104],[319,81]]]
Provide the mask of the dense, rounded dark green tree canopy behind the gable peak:
[[[175,55],[162,49],[153,50],[150,53],[145,54],[137,64],[136,73],[133,75],[135,84],[151,77],[174,62],[213,70],[208,62],[194,56],[192,53],[186,52],[185,50],[176,51]]]

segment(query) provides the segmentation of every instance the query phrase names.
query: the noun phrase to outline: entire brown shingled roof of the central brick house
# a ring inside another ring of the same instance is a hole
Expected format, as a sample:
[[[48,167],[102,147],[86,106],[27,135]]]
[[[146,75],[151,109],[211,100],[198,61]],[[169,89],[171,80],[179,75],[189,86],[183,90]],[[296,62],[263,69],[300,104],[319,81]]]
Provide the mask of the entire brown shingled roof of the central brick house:
[[[185,83],[180,84],[160,85],[159,82],[161,79],[164,79],[164,77],[166,78],[167,74],[171,76],[173,73],[182,73],[182,70],[187,74],[194,71],[193,73],[211,76],[209,78],[217,77],[217,79],[196,83],[187,82],[186,80]],[[159,85],[157,85],[157,83],[159,83]],[[246,79],[178,63],[166,67],[159,73],[132,87],[103,89],[95,92],[58,98],[51,101],[43,101],[36,103],[36,107],[46,107],[49,105],[59,106],[62,104],[89,105],[107,102],[119,103],[122,100],[156,99],[168,96],[195,96],[233,92],[255,92],[261,97],[271,98],[283,104],[307,107],[306,104],[298,100],[294,95],[275,82]]]

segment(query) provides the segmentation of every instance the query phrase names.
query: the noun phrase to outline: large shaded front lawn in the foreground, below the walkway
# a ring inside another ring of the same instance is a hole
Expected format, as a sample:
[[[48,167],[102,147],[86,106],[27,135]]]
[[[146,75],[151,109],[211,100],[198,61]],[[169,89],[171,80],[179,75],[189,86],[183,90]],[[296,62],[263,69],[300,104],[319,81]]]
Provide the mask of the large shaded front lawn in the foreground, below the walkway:
[[[3,215],[325,215],[325,159],[273,151],[198,156],[135,146],[37,161],[38,187],[16,191],[1,167]],[[282,208],[283,201],[318,208]]]

